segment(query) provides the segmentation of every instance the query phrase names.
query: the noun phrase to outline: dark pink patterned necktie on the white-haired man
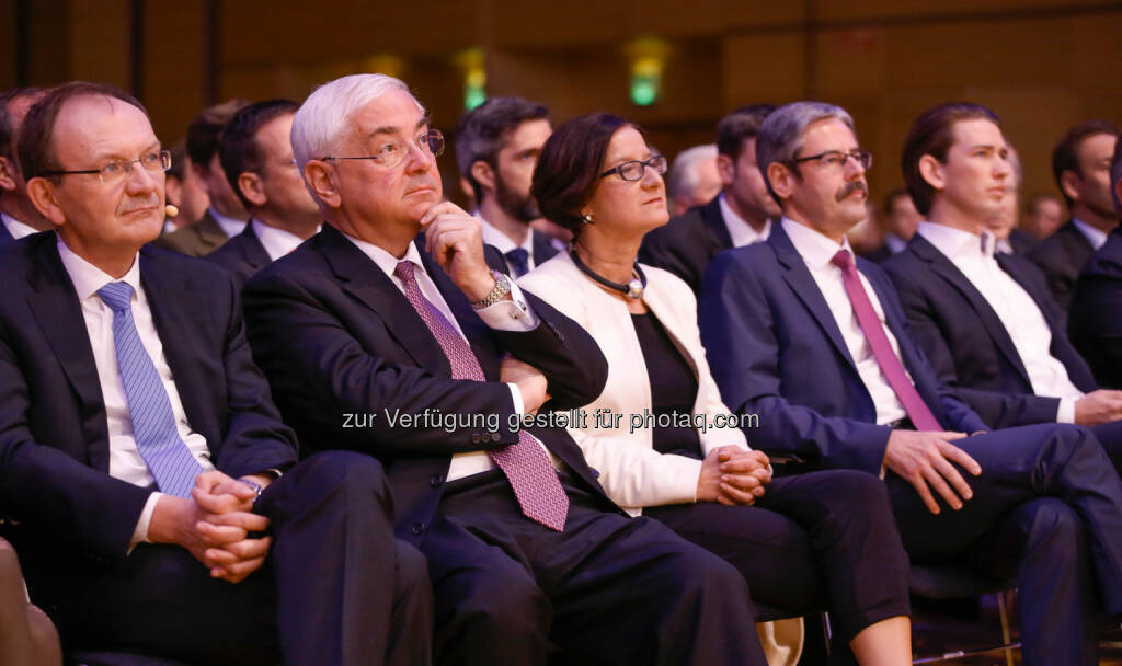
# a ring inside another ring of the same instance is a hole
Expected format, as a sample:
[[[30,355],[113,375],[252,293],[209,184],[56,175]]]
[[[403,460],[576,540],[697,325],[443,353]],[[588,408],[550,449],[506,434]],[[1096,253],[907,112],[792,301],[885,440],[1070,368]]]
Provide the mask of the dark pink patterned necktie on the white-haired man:
[[[405,286],[405,297],[410,305],[421,315],[429,331],[440,343],[440,349],[448,357],[448,362],[452,366],[452,379],[487,381],[479,366],[479,359],[468,346],[467,340],[436,309],[436,306],[424,297],[413,270],[412,262],[401,261],[394,268],[394,275]],[[508,444],[487,453],[506,474],[522,512],[550,529],[563,530],[565,517],[569,515],[569,497],[561,488],[557,471],[545,451],[530,436],[530,433],[518,431],[517,444]]]

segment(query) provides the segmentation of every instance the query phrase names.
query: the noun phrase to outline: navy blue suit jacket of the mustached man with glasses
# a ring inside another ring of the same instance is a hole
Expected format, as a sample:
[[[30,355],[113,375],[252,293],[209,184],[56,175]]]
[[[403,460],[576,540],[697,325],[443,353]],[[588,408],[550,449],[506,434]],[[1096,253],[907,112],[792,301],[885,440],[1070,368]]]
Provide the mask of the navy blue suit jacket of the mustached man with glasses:
[[[857,269],[876,292],[903,364],[939,424],[988,429],[911,341],[884,271],[859,257]],[[725,404],[734,414],[760,415],[760,427],[746,431],[753,446],[820,468],[880,471],[892,429],[876,425],[876,407],[842,331],[781,225],[772,226],[767,242],[714,258],[698,318]]]

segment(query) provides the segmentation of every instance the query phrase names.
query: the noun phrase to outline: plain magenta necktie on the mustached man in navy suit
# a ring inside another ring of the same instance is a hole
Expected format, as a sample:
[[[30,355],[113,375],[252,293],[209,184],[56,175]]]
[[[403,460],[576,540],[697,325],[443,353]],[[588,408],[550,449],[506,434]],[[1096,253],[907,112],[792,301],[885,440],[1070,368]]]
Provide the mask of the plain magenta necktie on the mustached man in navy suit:
[[[904,372],[903,364],[892,351],[889,336],[884,334],[884,327],[881,326],[881,317],[876,316],[868,294],[865,294],[865,287],[861,284],[861,276],[853,262],[853,255],[847,250],[838,250],[838,253],[834,255],[830,261],[842,269],[842,284],[845,285],[845,293],[849,296],[849,303],[853,304],[854,314],[857,315],[857,324],[865,332],[865,340],[868,341],[868,346],[873,350],[876,364],[881,367],[881,372],[889,380],[889,386],[896,394],[900,404],[904,406],[908,418],[911,419],[917,431],[941,431],[942,426],[936,420],[923,398],[916,391],[916,387],[908,379],[908,373]]]

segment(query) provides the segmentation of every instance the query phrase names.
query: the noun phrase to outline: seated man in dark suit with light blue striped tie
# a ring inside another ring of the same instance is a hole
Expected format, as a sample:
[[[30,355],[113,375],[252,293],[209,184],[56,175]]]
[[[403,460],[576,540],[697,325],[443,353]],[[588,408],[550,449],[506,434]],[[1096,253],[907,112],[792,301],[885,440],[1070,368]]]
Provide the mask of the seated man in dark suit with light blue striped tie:
[[[147,112],[103,84],[28,112],[57,233],[2,250],[0,511],[68,649],[194,664],[430,657],[423,557],[366,456],[296,464],[218,268],[141,247],[164,221]]]

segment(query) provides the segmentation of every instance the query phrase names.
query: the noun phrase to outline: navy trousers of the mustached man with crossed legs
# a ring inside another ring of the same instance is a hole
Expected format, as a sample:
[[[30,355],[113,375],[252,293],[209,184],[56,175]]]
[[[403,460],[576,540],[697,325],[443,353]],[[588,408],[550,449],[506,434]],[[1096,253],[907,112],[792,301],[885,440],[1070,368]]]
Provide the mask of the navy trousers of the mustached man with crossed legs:
[[[982,466],[963,472],[973,498],[960,510],[940,501],[932,515],[910,483],[885,479],[912,562],[1015,575],[1024,664],[1097,664],[1096,611],[1122,612],[1122,481],[1102,445],[1065,425],[954,444]]]

